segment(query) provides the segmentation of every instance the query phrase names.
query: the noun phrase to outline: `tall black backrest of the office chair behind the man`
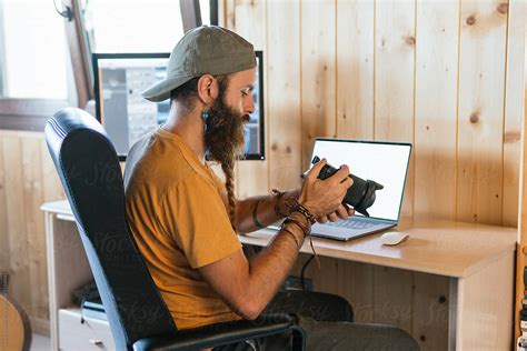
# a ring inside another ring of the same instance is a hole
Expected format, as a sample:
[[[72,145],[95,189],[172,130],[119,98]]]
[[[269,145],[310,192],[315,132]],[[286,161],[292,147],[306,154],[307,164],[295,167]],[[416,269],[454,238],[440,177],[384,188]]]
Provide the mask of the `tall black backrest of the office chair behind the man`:
[[[67,108],[46,126],[46,141],[73,211],[118,350],[177,330],[130,234],[121,169],[100,123]]]

